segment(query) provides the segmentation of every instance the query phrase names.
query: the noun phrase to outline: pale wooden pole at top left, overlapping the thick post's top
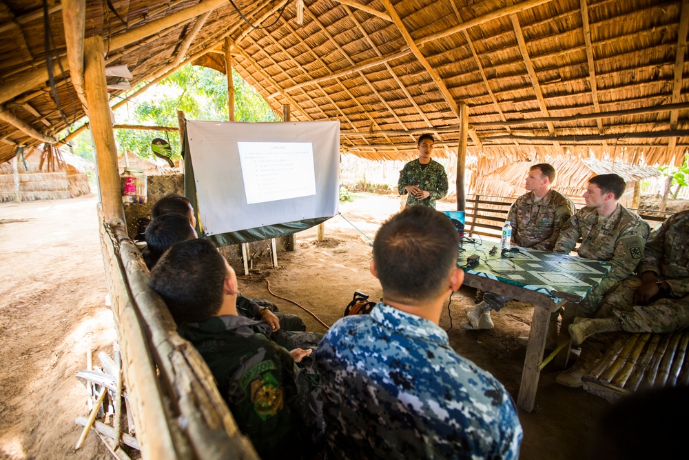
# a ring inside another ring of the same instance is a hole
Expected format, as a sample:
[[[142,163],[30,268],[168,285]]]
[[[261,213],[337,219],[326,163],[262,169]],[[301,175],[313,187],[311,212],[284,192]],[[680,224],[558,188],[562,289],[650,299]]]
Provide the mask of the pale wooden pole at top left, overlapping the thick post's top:
[[[84,94],[84,34],[86,28],[86,0],[62,0],[62,23],[67,46],[67,63],[76,96],[88,114]]]

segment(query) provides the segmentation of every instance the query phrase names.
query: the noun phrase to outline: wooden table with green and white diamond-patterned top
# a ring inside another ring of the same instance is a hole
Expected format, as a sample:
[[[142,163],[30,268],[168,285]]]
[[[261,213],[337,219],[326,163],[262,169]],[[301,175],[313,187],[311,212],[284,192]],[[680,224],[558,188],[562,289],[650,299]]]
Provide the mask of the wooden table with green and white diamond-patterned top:
[[[531,412],[542,366],[558,352],[559,364],[565,366],[569,355],[571,342],[567,326],[575,316],[575,308],[564,310],[557,350],[543,362],[551,313],[563,308],[567,301],[582,301],[607,276],[611,266],[593,259],[524,248],[519,248],[519,253],[502,257],[499,248],[495,254],[490,254],[491,248],[492,243],[464,243],[457,266],[465,272],[466,286],[535,306],[517,397],[517,406]],[[466,258],[471,255],[477,255],[479,263],[467,268]]]

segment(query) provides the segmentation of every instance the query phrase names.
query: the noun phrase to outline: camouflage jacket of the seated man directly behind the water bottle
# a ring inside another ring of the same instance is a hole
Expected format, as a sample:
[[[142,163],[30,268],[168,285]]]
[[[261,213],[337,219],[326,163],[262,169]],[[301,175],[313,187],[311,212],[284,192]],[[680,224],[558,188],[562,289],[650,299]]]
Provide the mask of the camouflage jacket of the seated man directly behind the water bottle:
[[[512,225],[512,243],[522,248],[551,251],[560,230],[574,214],[574,203],[551,189],[534,202],[533,192],[523,194],[511,206],[507,219]]]

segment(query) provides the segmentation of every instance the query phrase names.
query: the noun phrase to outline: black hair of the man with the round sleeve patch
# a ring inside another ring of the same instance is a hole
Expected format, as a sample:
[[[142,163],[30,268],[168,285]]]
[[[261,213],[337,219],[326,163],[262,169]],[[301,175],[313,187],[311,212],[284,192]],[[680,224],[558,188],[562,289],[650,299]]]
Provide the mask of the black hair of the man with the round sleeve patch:
[[[179,325],[210,319],[223,306],[227,267],[216,246],[205,239],[176,243],[151,270],[158,292]]]

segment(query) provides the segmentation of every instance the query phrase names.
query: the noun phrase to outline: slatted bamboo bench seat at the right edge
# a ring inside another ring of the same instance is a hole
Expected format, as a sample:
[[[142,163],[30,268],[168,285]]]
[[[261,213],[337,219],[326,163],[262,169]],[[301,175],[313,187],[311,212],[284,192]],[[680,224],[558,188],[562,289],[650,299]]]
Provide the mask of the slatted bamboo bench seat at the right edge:
[[[689,331],[623,332],[588,375],[584,389],[615,401],[644,388],[689,385]]]

